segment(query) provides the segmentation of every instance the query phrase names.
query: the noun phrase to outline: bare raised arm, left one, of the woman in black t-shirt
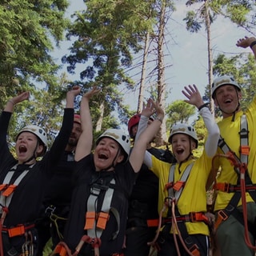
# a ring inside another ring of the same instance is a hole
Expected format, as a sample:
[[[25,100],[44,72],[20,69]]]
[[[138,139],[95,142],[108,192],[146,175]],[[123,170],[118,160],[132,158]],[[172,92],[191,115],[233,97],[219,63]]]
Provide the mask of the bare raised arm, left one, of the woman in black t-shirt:
[[[93,145],[93,123],[90,116],[89,102],[90,98],[93,97],[94,94],[98,94],[99,91],[100,90],[94,87],[92,90],[86,92],[86,94],[82,96],[80,105],[82,134],[80,135],[78,146],[75,150],[75,161],[81,160],[91,152],[91,147]]]

